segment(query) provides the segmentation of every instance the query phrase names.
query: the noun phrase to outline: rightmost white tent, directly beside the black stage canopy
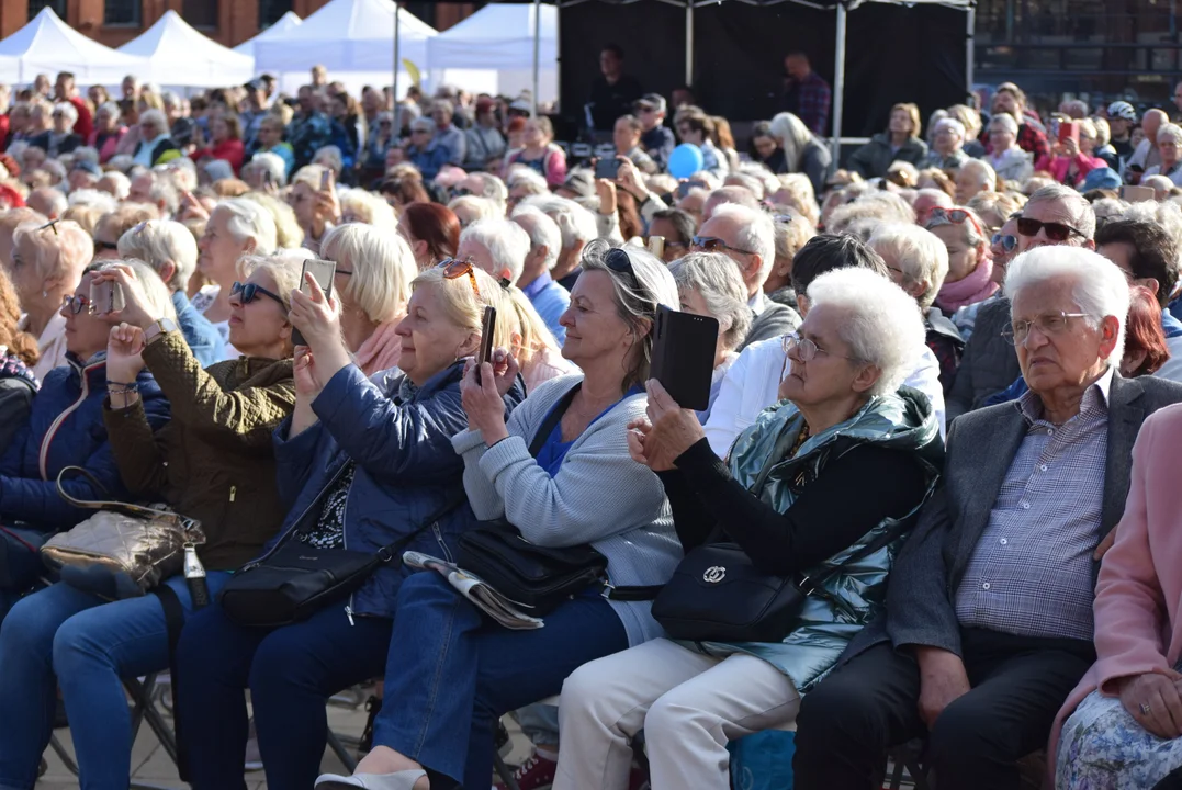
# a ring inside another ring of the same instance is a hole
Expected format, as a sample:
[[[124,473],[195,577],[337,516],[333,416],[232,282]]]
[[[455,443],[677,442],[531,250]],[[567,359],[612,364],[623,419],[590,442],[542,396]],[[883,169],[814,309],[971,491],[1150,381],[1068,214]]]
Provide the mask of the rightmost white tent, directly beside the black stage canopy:
[[[535,41],[540,60],[539,99],[550,102],[558,97],[554,6],[489,4],[428,39],[427,67],[436,84],[435,76],[447,70],[443,79],[469,91],[514,96],[533,89]]]

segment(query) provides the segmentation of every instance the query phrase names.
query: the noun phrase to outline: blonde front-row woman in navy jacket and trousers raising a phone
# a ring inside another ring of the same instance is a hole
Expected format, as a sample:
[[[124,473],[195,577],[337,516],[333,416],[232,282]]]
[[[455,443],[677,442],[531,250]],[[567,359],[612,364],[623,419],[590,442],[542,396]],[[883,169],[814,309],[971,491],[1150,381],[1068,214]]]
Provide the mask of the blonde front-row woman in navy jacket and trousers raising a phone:
[[[512,312],[501,287],[462,261],[420,274],[396,329],[398,367],[370,379],[344,345],[336,306],[305,282],[309,294],[292,293],[291,320],[307,342],[296,357],[296,411],[274,435],[287,518],[262,556],[286,541],[376,553],[430,521],[407,548],[454,556],[456,537],[475,523],[456,496],[463,461],[450,443],[466,423],[462,360],[481,346],[486,307]],[[498,326],[496,345],[508,328]],[[524,397],[520,386],[505,389],[502,419]],[[239,626],[220,605],[189,621],[176,700],[195,790],[243,786],[247,688],[267,783],[312,786],[327,738],[324,705],[382,674],[405,574],[383,564],[346,601],[279,628]]]

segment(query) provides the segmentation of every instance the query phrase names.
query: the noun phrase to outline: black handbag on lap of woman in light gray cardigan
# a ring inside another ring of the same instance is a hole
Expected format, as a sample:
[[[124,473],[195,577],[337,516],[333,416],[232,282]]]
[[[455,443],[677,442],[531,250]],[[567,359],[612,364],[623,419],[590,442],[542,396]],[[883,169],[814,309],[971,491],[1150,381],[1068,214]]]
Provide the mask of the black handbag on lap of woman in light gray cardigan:
[[[578,391],[576,385],[546,416],[530,444],[531,456],[538,456]],[[459,542],[457,564],[533,616],[550,614],[593,585],[616,601],[649,601],[661,590],[661,586],[613,587],[608,582],[608,557],[590,544],[537,546],[504,520],[485,522],[463,533]]]

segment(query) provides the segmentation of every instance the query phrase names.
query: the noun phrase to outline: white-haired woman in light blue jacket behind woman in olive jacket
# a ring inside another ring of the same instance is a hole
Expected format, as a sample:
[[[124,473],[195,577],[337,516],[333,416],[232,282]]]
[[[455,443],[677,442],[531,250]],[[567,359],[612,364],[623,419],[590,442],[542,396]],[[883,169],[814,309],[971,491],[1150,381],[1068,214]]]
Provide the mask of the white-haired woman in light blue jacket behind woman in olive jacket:
[[[193,357],[202,367],[222,360],[225,340],[189,302],[184,289],[197,269],[197,241],[180,222],[148,220],[119,236],[119,257],[144,261],[168,286],[176,309],[176,325]]]

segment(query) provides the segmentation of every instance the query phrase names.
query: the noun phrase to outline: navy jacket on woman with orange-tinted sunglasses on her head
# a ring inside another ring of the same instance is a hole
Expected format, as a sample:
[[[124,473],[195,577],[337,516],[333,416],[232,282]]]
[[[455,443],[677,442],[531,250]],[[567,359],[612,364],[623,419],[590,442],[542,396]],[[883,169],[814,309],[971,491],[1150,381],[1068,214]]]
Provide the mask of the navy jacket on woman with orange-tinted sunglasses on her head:
[[[452,437],[468,426],[460,403],[462,373],[463,364],[456,363],[403,403],[402,371],[379,373],[377,383],[356,365],[337,372],[312,403],[316,425],[290,438],[288,418],[275,430],[279,497],[291,509],[271,546],[292,529],[316,524],[326,491],[350,459],[357,464],[345,503],[345,548],[351,550],[377,551],[461,494],[463,459]],[[506,411],[524,398],[519,379],[505,397]],[[454,559],[456,537],[475,523],[463,503],[407,548]],[[407,573],[397,561],[381,566],[350,599],[352,613],[394,616]]]

